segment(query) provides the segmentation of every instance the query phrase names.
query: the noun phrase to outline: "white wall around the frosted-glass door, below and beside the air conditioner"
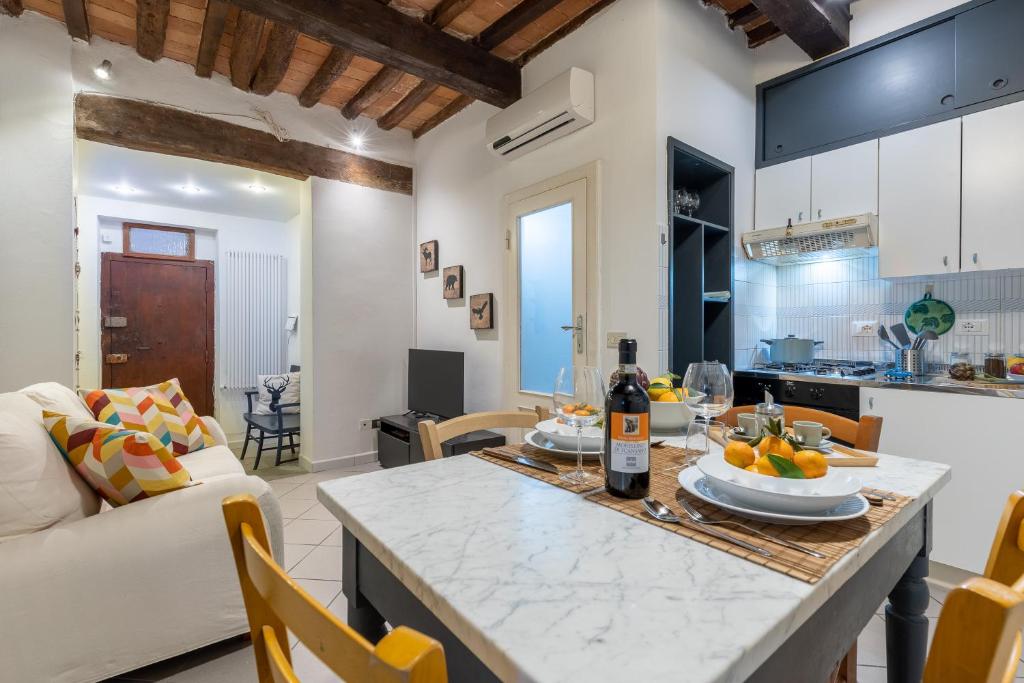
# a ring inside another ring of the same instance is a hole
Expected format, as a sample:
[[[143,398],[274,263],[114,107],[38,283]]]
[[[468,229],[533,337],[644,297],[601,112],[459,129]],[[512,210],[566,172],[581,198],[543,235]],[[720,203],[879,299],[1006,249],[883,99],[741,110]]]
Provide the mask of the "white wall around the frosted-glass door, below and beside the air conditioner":
[[[417,143],[417,242],[439,242],[441,267],[465,266],[467,295],[495,294],[497,334],[477,336],[468,297],[450,304],[439,278],[416,275],[417,346],[466,353],[467,411],[501,405],[502,347],[514,343],[498,323],[506,299],[503,198],[595,160],[602,165],[599,339],[606,330],[627,331],[638,339],[641,365],[656,365],[654,9],[654,0],[614,3],[523,70],[527,92],[568,67],[593,72],[593,125],[520,159],[498,160],[484,148],[484,123],[497,110],[477,102]],[[612,362],[614,352],[604,350],[602,365]]]

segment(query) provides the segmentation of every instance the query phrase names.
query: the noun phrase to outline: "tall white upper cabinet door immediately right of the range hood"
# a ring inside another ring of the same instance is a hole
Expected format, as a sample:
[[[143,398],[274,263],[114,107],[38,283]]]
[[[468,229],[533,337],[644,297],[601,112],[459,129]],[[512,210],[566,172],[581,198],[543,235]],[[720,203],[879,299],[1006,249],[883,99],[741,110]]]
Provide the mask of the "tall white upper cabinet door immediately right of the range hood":
[[[961,120],[883,137],[879,275],[959,271]]]

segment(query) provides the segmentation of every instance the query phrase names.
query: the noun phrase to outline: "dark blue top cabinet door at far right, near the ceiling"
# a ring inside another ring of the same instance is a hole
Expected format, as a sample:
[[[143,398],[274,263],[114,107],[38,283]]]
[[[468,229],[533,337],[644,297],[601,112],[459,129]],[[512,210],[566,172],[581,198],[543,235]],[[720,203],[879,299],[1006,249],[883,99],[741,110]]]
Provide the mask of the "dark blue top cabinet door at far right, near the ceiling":
[[[955,24],[957,106],[1024,90],[1024,1],[994,0]]]

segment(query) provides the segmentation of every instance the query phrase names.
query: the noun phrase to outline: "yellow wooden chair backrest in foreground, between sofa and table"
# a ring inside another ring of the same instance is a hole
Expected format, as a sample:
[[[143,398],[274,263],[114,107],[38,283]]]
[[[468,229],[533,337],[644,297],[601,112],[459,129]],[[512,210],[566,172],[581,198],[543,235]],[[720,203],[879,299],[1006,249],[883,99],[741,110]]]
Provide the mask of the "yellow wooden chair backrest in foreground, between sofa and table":
[[[374,647],[293,582],[270,556],[255,498],[225,498],[222,508],[260,683],[298,682],[288,631],[349,683],[446,683],[437,641],[399,626]]]

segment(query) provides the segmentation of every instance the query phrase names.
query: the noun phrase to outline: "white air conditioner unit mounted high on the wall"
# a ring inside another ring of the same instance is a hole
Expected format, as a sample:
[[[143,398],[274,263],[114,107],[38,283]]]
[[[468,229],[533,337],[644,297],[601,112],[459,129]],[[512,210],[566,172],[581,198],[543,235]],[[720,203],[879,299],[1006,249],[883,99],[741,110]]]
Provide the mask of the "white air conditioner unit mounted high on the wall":
[[[487,148],[521,157],[594,123],[594,75],[575,67],[487,120]]]

